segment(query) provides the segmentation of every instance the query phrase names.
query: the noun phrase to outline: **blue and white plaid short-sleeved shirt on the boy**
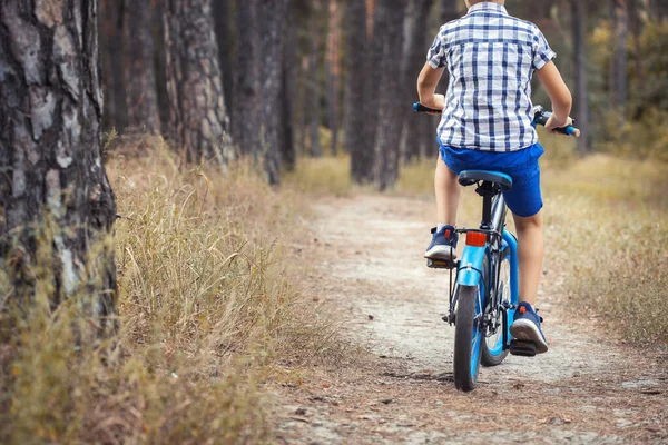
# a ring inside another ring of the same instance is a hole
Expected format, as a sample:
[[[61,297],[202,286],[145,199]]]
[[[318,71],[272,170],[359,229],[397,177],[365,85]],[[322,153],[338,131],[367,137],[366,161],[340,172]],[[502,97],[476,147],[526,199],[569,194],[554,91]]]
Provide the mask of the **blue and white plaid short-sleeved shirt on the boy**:
[[[444,146],[514,151],[538,142],[531,77],[557,55],[538,27],[492,2],[441,27],[428,62],[450,71],[439,125]]]

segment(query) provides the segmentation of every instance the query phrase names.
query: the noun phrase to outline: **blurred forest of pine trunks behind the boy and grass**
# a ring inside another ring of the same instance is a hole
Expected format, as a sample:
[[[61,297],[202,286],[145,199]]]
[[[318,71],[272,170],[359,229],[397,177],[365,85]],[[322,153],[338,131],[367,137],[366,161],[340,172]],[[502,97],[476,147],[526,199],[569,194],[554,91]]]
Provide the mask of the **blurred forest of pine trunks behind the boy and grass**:
[[[171,4],[171,3],[170,3]],[[352,179],[394,186],[435,155],[438,119],[413,116],[415,80],[455,0],[101,0],[105,128],[148,130],[194,161],[348,154]],[[558,53],[580,155],[668,158],[667,0],[509,0]],[[446,82],[441,82],[441,89]],[[538,87],[538,86],[537,86]],[[534,103],[549,99],[534,88]]]

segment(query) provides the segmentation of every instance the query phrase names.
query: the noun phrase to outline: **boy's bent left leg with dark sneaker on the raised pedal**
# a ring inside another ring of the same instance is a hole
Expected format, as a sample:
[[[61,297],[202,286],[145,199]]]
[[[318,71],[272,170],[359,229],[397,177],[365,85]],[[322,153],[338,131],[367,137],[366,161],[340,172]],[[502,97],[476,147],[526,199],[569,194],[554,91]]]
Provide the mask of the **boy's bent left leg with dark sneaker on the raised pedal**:
[[[454,231],[456,206],[459,205],[460,186],[458,176],[439,155],[434,174],[434,191],[436,194],[438,227],[432,230],[432,240],[424,253],[425,258],[450,260],[456,258],[459,235]]]

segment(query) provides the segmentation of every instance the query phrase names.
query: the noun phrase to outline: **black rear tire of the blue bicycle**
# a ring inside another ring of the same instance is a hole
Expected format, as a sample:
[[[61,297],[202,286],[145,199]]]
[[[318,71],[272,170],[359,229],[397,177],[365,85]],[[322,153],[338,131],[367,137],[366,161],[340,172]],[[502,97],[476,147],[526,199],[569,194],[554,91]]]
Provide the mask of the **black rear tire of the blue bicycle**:
[[[456,323],[454,329],[454,386],[460,390],[475,389],[480,369],[480,347],[473,357],[473,319],[478,286],[460,286],[456,303]],[[481,342],[481,346],[482,346]],[[472,369],[472,366],[475,368]]]

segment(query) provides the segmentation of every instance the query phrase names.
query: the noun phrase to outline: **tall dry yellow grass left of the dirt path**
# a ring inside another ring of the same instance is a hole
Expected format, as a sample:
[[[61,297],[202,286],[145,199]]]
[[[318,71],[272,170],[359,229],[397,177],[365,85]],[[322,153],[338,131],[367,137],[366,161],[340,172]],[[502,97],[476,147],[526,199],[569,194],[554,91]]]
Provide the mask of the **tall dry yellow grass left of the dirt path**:
[[[77,342],[84,297],[52,312],[42,288],[0,350],[0,442],[267,441],[267,365],[333,342],[286,248],[303,230],[303,199],[244,166],[227,176],[179,166],[159,140],[140,157],[116,155],[108,172],[122,216],[121,329]],[[48,283],[48,263],[42,274]]]

